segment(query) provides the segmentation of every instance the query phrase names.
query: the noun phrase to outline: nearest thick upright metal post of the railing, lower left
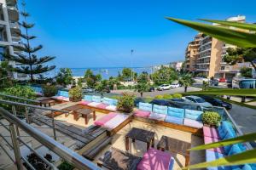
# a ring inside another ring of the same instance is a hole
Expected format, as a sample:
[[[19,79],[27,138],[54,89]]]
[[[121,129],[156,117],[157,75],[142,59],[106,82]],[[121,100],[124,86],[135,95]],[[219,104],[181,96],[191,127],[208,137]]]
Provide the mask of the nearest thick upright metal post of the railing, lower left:
[[[16,166],[18,170],[23,169],[23,165],[21,163],[21,156],[20,156],[20,145],[18,143],[17,139],[17,133],[15,129],[15,125],[13,123],[10,123],[9,125],[9,130],[10,130],[10,135],[14,147],[14,152],[15,152],[15,161],[16,161]]]

